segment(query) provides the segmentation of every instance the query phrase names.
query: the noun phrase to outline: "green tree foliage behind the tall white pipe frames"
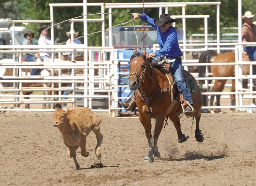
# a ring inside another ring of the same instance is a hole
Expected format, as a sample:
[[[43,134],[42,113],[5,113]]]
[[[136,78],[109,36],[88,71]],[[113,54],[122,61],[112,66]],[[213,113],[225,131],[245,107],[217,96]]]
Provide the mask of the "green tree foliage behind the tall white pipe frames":
[[[212,2],[213,0],[202,0],[202,2]],[[87,0],[87,3],[142,3],[142,0]],[[163,2],[161,0],[145,0],[145,2]],[[177,0],[168,0],[167,2],[177,2]],[[197,0],[180,0],[179,2],[198,2]],[[237,27],[238,26],[238,1],[237,0],[220,0],[220,28],[221,32],[224,27]],[[83,3],[83,0],[1,0],[0,1],[0,15],[3,18],[11,18],[15,20],[49,20],[50,19],[50,8],[49,3]],[[186,15],[210,15],[208,18],[208,33],[216,32],[216,10],[215,5],[199,5],[199,6],[186,6]],[[256,3],[252,0],[242,1],[242,14],[245,11],[250,10],[251,12],[256,11]],[[108,9],[105,13],[108,13]],[[173,7],[168,9],[171,15],[181,15],[181,7]],[[100,13],[100,7],[88,6],[87,14],[97,14]],[[131,20],[131,14],[134,12],[143,12],[142,8],[123,8],[123,9],[112,9],[112,26],[120,23],[125,23]],[[164,9],[163,9],[164,12]],[[121,14],[115,14],[121,13]],[[154,19],[158,19],[159,9],[158,8],[147,8],[145,13]],[[56,7],[54,8],[54,24],[68,20],[70,18],[75,18],[77,16],[83,15],[83,7]],[[81,17],[83,18],[83,17]],[[101,15],[89,15],[87,18],[101,18]],[[255,18],[255,17],[254,17]],[[105,29],[109,26],[108,22],[109,16],[105,15]],[[182,19],[177,19],[178,22],[176,26],[182,24]],[[136,25],[143,24],[141,20],[134,20],[133,23]],[[17,25],[17,24],[16,24]],[[50,26],[50,24],[47,24]],[[132,25],[129,23],[128,25]],[[23,25],[27,29],[35,32],[36,37],[39,37],[38,28],[42,24],[27,24]],[[79,36],[83,36],[83,22],[75,22],[75,31],[79,31]],[[97,32],[101,30],[100,22],[88,22],[87,32],[88,34]],[[204,27],[204,19],[186,19],[186,30],[188,34],[192,33],[204,33],[200,28]],[[64,23],[58,24],[54,27],[55,33],[55,43],[65,42],[68,38],[66,36],[66,31],[70,30],[70,22],[65,21]],[[232,31],[228,31],[232,32]],[[235,30],[234,32],[237,32]],[[49,34],[50,36],[50,34]],[[83,38],[80,39],[83,43]],[[88,35],[88,45],[89,46],[101,46],[101,33]]]

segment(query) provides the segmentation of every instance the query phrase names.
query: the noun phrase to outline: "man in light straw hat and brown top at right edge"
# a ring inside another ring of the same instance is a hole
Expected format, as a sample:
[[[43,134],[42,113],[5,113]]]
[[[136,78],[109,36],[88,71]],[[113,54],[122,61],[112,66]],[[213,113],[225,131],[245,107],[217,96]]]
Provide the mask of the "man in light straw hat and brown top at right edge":
[[[256,42],[256,26],[253,24],[253,17],[251,11],[246,11],[242,19],[245,19],[245,23],[242,26],[242,42]],[[249,55],[252,61],[256,61],[256,46],[247,47],[244,46],[245,52]],[[256,65],[253,65],[253,74],[256,74]],[[253,79],[256,84],[256,79]]]

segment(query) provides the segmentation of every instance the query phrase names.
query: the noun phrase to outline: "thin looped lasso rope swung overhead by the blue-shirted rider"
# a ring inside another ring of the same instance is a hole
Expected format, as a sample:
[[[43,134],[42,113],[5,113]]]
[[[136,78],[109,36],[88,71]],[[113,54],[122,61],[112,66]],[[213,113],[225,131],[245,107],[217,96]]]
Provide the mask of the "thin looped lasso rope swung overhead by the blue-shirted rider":
[[[49,27],[47,27],[46,29],[42,30],[42,32],[43,32],[43,31],[46,31],[46,30],[48,30],[48,29],[50,29],[50,28],[53,27],[53,26],[56,26],[56,25],[61,24],[61,23],[64,23],[64,22],[66,22],[66,21],[70,21],[70,20],[72,20],[72,19],[77,19],[77,18],[81,18],[81,17],[84,17],[84,16],[100,15],[100,14],[123,14],[123,13],[120,13],[120,12],[117,12],[117,13],[95,13],[95,14],[87,14],[87,15],[83,15],[83,16],[77,16],[77,17],[75,17],[75,18],[66,19],[66,20],[61,21],[61,22],[59,22],[59,23],[53,24],[52,26],[49,26]],[[133,16],[133,13],[130,13],[130,12],[127,12],[126,14],[131,14],[131,18],[132,18],[132,16]],[[89,36],[89,35],[92,35],[92,34],[96,34],[96,33],[102,32],[102,31],[108,31],[109,29],[113,29],[113,28],[118,27],[118,26],[123,26],[123,25],[126,25],[126,24],[130,23],[130,22],[133,23],[133,20],[134,20],[134,18],[132,18],[130,21],[127,21],[127,22],[125,22],[125,23],[121,23],[121,24],[117,24],[117,25],[112,26],[112,27],[108,27],[108,28],[105,29],[105,30],[101,30],[101,31],[97,31],[97,32],[92,32],[92,33],[86,34],[86,35],[84,35],[84,36],[76,37],[76,38],[74,38],[74,39],[72,39],[72,40],[70,40],[70,41],[74,41],[75,39],[79,39],[79,38],[82,38],[82,37],[85,37],[85,36]],[[138,48],[138,47],[139,47],[139,42],[138,42],[138,37],[137,37],[137,34],[136,34],[136,29],[135,29],[134,24],[133,24],[133,28],[134,28],[134,32],[135,32],[135,36],[136,36],[136,40],[137,40],[137,48]],[[40,34],[39,37],[41,37],[42,32],[41,32],[41,34]],[[43,42],[44,42],[44,41],[43,41]],[[44,43],[46,43],[46,42],[44,42]],[[60,45],[60,44],[65,44],[65,43],[66,43],[66,41],[65,41],[65,42],[61,42],[61,43],[53,43],[53,44],[50,44],[50,45]],[[48,44],[48,43],[47,43],[47,44]]]

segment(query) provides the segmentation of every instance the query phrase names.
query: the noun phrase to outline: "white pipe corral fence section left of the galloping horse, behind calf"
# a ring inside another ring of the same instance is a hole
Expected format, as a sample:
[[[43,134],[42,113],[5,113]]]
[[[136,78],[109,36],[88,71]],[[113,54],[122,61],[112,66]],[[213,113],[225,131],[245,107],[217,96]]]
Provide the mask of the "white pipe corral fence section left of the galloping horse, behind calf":
[[[28,50],[33,48],[32,50]],[[21,62],[21,53],[24,52],[42,52],[49,49],[47,52],[63,53],[76,52],[88,53],[86,61],[63,61],[60,57],[49,62]],[[0,87],[0,104],[15,104],[16,109],[1,108],[0,110],[27,110],[24,109],[25,104],[62,104],[71,103],[75,107],[76,99],[83,99],[83,106],[93,108],[92,102],[95,99],[106,99],[107,108],[97,109],[101,112],[109,112],[108,105],[112,96],[113,77],[113,47],[85,47],[83,45],[52,45],[40,47],[38,45],[15,45],[15,46],[0,46],[1,53],[18,53],[19,60],[1,60],[0,71],[6,68],[13,69],[13,73],[0,76],[0,83],[11,83],[12,86]],[[38,50],[36,50],[38,49]],[[99,58],[94,59],[94,53],[97,53]],[[109,60],[102,58],[104,53],[108,53]],[[30,76],[25,74],[27,69],[40,68],[44,70],[44,74],[39,76]],[[68,73],[62,74],[62,70],[67,70]],[[78,73],[78,71],[81,71]],[[55,76],[54,73],[55,72]],[[56,76],[56,74],[58,74]],[[2,74],[3,75],[3,74]],[[111,79],[112,78],[112,79]],[[30,84],[29,84],[30,83]],[[34,84],[31,85],[31,84]],[[39,84],[39,85],[38,85]],[[63,86],[63,84],[66,84]],[[33,86],[33,87],[31,87]],[[33,91],[32,95],[24,95],[24,92]],[[51,91],[51,95],[42,95],[42,92]],[[63,95],[63,91],[70,91],[69,95]],[[11,92],[11,94],[10,94]],[[57,92],[57,95],[54,94]],[[76,94],[78,93],[78,94]],[[24,99],[24,98],[32,99]],[[8,98],[8,99],[6,99]],[[49,99],[47,99],[49,98]],[[67,98],[67,99],[63,99]],[[81,102],[81,101],[80,101]],[[32,111],[41,110],[32,106]],[[45,109],[44,109],[45,110]],[[50,109],[48,109],[50,110]],[[47,111],[47,109],[45,110]]]

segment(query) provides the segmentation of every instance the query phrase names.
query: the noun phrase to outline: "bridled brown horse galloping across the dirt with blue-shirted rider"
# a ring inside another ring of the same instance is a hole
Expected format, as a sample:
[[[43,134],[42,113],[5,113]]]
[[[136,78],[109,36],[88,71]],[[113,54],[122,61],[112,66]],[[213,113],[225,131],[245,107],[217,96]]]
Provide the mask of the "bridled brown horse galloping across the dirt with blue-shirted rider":
[[[173,122],[178,134],[178,142],[185,142],[189,136],[181,132],[180,118],[179,115],[182,113],[181,100],[182,97],[178,92],[177,86],[164,91],[170,86],[170,83],[162,69],[153,67],[151,58],[146,58],[146,49],[143,53],[136,53],[134,49],[133,55],[131,56],[130,62],[130,74],[129,74],[129,87],[136,94],[136,104],[139,110],[139,120],[143,125],[146,133],[146,137],[149,144],[149,154],[144,160],[153,162],[154,157],[160,158],[158,152],[157,140],[162,131],[164,121],[167,117]],[[199,129],[199,121],[201,118],[201,106],[202,98],[199,86],[194,77],[183,71],[185,78],[192,81],[193,93],[192,99],[194,102],[196,118],[196,130],[195,137],[196,141],[203,142],[204,138]],[[148,107],[147,107],[148,105]],[[154,134],[151,133],[151,118],[149,117],[148,108],[156,119]],[[153,157],[154,156],[154,157]]]

